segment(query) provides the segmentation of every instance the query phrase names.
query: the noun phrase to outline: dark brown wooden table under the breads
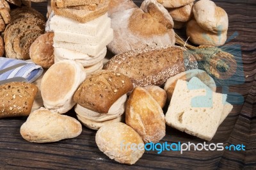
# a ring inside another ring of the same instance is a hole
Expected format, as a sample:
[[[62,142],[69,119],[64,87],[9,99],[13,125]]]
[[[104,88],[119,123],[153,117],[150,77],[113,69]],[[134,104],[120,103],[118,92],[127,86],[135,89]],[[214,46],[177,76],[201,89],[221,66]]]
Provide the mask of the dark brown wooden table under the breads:
[[[110,160],[95,143],[95,131],[83,127],[75,139],[36,144],[22,139],[20,126],[26,118],[0,120],[0,169],[256,169],[256,1],[215,1],[228,13],[228,44],[241,46],[243,70],[229,86],[230,100],[237,102],[218,128],[211,143],[244,144],[245,151],[146,151],[136,164],[127,166]],[[136,1],[140,4],[141,1]],[[33,4],[45,13],[45,3]],[[184,30],[177,31],[181,36]],[[239,50],[238,50],[239,53]],[[237,61],[238,62],[238,61]],[[219,88],[220,91],[220,88]],[[236,94],[234,94],[236,92]],[[244,102],[237,99],[240,94]],[[75,116],[74,112],[70,113]],[[70,115],[69,114],[69,115]],[[166,128],[163,143],[204,143],[203,140]]]

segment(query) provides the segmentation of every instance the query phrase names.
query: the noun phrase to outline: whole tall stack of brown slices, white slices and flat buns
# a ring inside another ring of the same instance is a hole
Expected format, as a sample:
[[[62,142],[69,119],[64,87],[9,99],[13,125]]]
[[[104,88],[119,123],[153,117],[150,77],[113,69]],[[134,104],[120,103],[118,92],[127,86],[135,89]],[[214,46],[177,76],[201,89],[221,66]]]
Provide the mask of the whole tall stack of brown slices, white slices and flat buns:
[[[109,42],[113,39],[108,0],[51,2],[54,31],[54,62],[70,59],[81,63],[86,74],[102,70]]]

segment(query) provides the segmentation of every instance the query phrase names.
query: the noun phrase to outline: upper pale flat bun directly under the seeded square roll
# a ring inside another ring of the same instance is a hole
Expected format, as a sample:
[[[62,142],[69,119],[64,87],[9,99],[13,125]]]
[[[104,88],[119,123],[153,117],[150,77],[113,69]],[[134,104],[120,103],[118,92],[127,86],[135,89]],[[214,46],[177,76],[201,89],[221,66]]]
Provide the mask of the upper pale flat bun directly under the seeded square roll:
[[[83,118],[86,118],[87,120],[98,121],[98,122],[113,120],[115,118],[118,118],[122,114],[124,114],[126,99],[127,99],[127,95],[123,95],[122,97],[118,98],[118,100],[116,100],[116,102],[113,105],[111,105],[108,113],[104,113],[104,114],[91,111],[89,109],[82,107],[79,104],[76,105],[75,111],[77,115]]]

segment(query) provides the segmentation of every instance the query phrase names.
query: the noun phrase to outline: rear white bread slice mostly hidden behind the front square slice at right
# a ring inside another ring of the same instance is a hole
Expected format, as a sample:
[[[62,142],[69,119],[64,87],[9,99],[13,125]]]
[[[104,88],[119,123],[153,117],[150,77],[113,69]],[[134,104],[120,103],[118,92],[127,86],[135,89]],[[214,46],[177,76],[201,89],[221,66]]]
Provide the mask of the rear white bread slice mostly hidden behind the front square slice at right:
[[[192,77],[190,79],[189,83],[196,84],[200,88],[205,88],[205,89],[208,89],[208,90],[211,89],[211,88],[209,88],[209,86],[204,84],[204,82],[198,81],[198,80],[199,79],[197,77]],[[224,103],[224,107],[223,107],[223,111],[222,111],[222,114],[221,114],[219,125],[225,120],[225,118],[227,118],[228,114],[233,109],[233,105],[229,104],[228,102],[223,102],[223,103]]]

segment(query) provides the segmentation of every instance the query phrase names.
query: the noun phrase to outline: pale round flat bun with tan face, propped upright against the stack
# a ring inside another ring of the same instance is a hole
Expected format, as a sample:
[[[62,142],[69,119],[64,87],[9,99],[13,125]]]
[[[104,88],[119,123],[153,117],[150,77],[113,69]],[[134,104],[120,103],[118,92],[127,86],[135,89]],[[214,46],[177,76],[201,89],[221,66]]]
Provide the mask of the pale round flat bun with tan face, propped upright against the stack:
[[[52,65],[41,82],[44,106],[49,110],[65,113],[76,104],[73,95],[86,72],[80,63],[72,60],[63,60]]]

